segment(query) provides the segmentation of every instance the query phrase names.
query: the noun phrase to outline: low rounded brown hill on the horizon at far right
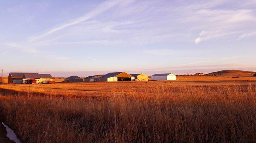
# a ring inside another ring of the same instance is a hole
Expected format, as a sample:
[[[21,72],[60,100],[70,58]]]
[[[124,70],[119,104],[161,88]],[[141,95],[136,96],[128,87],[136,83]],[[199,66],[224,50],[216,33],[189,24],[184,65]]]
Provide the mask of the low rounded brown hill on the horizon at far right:
[[[256,72],[253,71],[243,71],[243,70],[221,70],[213,73],[208,73],[207,75],[219,75],[219,76],[253,76]]]

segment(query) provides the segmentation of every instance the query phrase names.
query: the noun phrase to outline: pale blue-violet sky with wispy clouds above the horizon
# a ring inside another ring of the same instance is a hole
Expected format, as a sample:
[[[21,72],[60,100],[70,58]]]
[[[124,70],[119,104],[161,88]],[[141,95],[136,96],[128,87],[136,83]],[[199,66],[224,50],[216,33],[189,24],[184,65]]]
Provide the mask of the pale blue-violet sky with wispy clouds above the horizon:
[[[0,69],[256,71],[256,0],[0,0]]]

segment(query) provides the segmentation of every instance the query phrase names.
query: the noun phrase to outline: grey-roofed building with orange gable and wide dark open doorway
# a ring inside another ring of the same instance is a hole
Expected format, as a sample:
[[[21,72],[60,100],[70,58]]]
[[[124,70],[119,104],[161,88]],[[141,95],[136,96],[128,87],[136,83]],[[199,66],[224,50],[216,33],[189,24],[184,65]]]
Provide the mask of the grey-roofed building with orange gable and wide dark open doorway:
[[[99,78],[99,81],[133,81],[134,77],[125,72],[108,73]]]

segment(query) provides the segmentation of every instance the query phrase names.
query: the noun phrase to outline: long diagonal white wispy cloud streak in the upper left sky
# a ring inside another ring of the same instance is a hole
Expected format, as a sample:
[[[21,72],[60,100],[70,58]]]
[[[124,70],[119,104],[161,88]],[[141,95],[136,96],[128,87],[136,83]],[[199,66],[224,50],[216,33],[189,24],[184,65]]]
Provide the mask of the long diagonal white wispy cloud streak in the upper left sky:
[[[117,4],[119,4],[121,2],[122,2],[122,0],[105,1],[105,2],[101,3],[98,7],[96,7],[95,9],[90,11],[89,13],[87,13],[86,15],[84,15],[82,17],[79,17],[75,20],[72,20],[70,22],[66,22],[66,23],[64,23],[64,24],[62,24],[58,27],[52,28],[49,31],[47,31],[47,32],[45,32],[45,33],[43,33],[39,36],[31,36],[31,37],[29,37],[29,40],[33,41],[33,40],[36,40],[36,39],[40,39],[44,36],[52,34],[52,33],[56,32],[56,31],[59,31],[63,28],[69,27],[71,25],[78,24],[78,23],[83,22],[85,20],[89,20],[90,18],[95,17],[95,16],[101,14],[104,11],[107,11],[108,9],[112,8],[113,6],[116,6]]]

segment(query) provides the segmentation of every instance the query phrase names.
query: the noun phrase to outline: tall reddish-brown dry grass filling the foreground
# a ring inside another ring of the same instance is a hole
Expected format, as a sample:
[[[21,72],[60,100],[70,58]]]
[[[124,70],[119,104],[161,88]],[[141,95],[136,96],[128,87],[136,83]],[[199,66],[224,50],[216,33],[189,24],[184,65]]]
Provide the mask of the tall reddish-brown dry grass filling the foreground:
[[[256,87],[165,85],[111,96],[0,96],[24,143],[253,143]],[[6,95],[6,93],[5,93]]]

